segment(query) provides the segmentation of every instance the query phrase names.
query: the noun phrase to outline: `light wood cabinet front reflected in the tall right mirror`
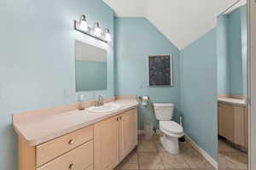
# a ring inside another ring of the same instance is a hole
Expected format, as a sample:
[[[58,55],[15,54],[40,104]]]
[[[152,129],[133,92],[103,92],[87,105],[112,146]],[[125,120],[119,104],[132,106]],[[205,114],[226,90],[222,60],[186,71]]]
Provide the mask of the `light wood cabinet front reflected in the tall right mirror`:
[[[247,126],[246,106],[218,102],[218,135],[247,147]]]

